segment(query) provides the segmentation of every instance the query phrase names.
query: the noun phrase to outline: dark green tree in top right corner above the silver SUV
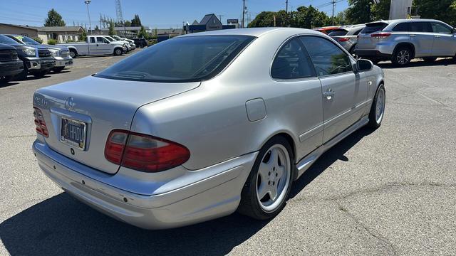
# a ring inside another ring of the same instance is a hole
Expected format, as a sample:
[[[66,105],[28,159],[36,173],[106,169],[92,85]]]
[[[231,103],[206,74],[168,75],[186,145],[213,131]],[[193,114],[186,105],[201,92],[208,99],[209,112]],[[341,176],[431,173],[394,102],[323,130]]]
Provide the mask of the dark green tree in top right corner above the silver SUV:
[[[435,18],[456,26],[456,0],[414,0],[413,9],[421,18]]]

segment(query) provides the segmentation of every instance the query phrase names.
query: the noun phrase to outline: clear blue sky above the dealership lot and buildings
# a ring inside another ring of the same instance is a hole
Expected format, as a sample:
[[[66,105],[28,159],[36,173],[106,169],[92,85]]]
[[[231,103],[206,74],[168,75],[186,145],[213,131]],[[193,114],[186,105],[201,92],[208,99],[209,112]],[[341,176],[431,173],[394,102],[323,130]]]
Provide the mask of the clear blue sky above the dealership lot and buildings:
[[[0,0],[0,23],[12,23],[29,26],[42,26],[49,9],[54,8],[63,16],[68,26],[87,23],[88,15],[83,0]],[[321,6],[321,11],[331,15],[331,0],[289,0],[289,10],[298,6]],[[247,0],[247,11],[252,19],[261,11],[278,11],[285,9],[285,0]],[[242,0],[193,0],[193,1],[158,1],[158,0],[121,0],[123,18],[132,19],[134,14],[140,16],[143,25],[152,28],[182,27],[182,21],[192,23],[200,21],[204,14],[222,15],[222,22],[227,18],[242,16]],[[336,4],[336,13],[346,9],[346,0]],[[89,5],[92,26],[100,26],[100,14],[115,19],[115,0],[92,0]],[[248,17],[247,17],[248,18]]]

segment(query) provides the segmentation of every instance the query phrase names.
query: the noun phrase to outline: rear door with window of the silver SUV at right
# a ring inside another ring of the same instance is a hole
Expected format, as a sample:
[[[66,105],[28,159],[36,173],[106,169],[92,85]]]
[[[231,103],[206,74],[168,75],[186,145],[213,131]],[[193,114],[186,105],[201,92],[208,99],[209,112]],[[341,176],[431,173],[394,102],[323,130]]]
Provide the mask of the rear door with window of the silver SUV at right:
[[[410,41],[415,46],[415,57],[426,57],[432,55],[432,26],[427,21],[410,22]]]

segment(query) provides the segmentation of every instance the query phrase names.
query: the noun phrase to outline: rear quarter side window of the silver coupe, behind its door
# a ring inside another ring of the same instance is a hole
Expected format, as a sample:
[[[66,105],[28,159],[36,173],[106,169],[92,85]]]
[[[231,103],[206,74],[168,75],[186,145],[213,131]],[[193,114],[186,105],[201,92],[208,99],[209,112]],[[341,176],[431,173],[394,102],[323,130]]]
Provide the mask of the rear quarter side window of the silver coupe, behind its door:
[[[306,49],[299,38],[291,39],[277,53],[272,63],[271,76],[278,79],[310,78],[315,76]]]

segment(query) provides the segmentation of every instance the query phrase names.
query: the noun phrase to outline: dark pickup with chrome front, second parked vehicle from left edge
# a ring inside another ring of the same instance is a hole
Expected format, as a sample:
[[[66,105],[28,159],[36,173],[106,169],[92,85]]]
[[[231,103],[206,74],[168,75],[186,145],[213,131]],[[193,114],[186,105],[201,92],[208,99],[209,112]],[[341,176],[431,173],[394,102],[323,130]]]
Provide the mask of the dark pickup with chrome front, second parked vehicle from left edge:
[[[24,63],[24,70],[14,79],[23,80],[28,74],[41,78],[56,65],[56,60],[52,58],[51,51],[44,46],[26,46],[5,35],[0,35],[0,43],[16,48],[19,59]]]

